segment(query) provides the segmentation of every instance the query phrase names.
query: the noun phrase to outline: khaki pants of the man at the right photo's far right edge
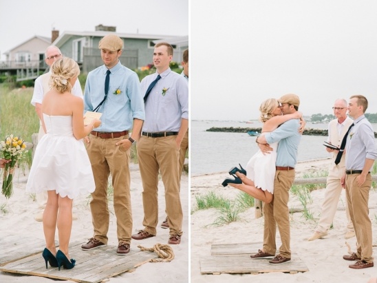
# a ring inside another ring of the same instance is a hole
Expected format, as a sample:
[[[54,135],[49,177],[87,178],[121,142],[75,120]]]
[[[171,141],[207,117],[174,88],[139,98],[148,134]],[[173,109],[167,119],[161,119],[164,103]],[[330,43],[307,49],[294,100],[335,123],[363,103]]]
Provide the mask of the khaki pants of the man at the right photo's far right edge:
[[[361,187],[358,187],[356,182],[358,176],[360,176],[360,174],[351,174],[345,177],[347,204],[349,207],[349,215],[351,216],[352,223],[354,223],[357,240],[356,254],[361,260],[373,262],[371,220],[369,218],[368,208],[371,174],[367,175]]]

